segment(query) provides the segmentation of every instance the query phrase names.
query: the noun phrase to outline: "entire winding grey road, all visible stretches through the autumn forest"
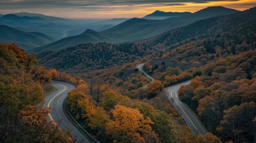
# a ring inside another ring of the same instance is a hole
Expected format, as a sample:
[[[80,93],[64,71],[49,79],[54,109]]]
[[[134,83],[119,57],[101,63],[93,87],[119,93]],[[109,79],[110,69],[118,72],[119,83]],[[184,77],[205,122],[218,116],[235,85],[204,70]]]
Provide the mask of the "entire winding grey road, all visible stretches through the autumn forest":
[[[143,70],[144,64],[138,64],[137,68],[139,71],[143,72],[144,75],[146,75],[148,78],[150,78],[151,82],[153,82],[155,79],[148,75],[144,70]],[[184,106],[184,104],[179,100],[177,96],[177,91],[179,90],[180,86],[182,85],[187,85],[190,84],[189,81],[184,81],[180,84],[175,84],[173,86],[169,86],[165,88],[166,93],[168,95],[168,98],[171,100],[173,103],[173,106],[176,108],[176,110],[181,114],[183,119],[185,120],[186,124],[191,128],[192,132],[194,134],[206,134],[205,130],[202,128],[200,123],[197,121],[197,119],[193,116],[193,114]],[[144,86],[144,88],[147,87],[148,84]],[[57,121],[59,119],[63,119],[61,121],[59,127],[61,129],[68,130],[70,129],[73,136],[76,136],[76,139],[81,141],[82,143],[90,143],[88,139],[83,136],[83,134],[73,125],[73,123],[66,117],[64,111],[63,111],[63,103],[67,97],[67,93],[75,89],[76,87],[73,84],[69,84],[63,81],[53,81],[52,86],[54,88],[57,88],[57,90],[45,97],[45,104],[44,107],[51,107],[53,110],[48,118],[49,120]],[[57,123],[58,124],[58,123]]]

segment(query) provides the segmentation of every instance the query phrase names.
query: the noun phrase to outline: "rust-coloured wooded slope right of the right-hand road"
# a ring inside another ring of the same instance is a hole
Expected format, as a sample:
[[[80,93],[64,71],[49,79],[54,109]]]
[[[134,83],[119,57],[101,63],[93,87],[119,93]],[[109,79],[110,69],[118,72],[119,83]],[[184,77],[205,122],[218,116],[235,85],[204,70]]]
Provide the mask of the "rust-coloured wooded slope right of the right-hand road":
[[[180,99],[223,141],[254,143],[256,50],[219,58],[193,70],[202,75],[180,89]]]

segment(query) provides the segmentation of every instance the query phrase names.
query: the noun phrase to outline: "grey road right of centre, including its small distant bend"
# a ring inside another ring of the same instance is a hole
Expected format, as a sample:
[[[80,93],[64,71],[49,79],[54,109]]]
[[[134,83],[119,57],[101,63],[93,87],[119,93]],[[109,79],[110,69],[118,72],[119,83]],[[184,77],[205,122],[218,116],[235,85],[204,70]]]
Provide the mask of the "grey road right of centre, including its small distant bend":
[[[150,78],[150,80],[153,82],[155,79],[153,77],[151,77],[150,75],[148,75],[143,70],[143,65],[144,64],[138,64],[137,68],[139,69],[139,71],[143,72],[144,75],[146,75],[148,78]],[[181,114],[181,116],[185,120],[186,124],[189,126],[189,128],[191,128],[192,132],[197,135],[198,134],[207,134],[207,132],[205,132],[204,128],[202,128],[202,126],[197,121],[197,119],[195,119],[193,114],[180,101],[180,99],[178,98],[178,95],[177,95],[177,91],[180,89],[180,86],[188,85],[188,84],[190,84],[190,82],[191,82],[191,80],[188,80],[188,81],[184,81],[179,84],[175,84],[173,86],[166,87],[165,91],[166,91],[168,98],[173,103],[173,106],[176,108],[177,112],[179,112],[179,114]],[[146,85],[148,85],[148,84],[146,84]]]

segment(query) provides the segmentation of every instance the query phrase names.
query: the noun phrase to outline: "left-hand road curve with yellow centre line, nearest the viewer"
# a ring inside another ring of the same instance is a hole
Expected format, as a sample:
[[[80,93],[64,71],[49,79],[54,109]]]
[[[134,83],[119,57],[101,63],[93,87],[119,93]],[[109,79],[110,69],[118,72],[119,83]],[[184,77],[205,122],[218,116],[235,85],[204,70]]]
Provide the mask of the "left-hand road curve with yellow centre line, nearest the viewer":
[[[57,122],[58,119],[63,119],[60,124],[61,129],[70,129],[73,136],[76,136],[77,142],[81,141],[82,143],[90,143],[83,134],[73,125],[73,123],[66,117],[63,111],[63,103],[67,97],[67,93],[76,89],[76,86],[62,81],[52,81],[52,86],[57,88],[55,92],[49,94],[45,97],[44,107],[51,107],[55,109],[51,111],[48,116],[49,120]]]

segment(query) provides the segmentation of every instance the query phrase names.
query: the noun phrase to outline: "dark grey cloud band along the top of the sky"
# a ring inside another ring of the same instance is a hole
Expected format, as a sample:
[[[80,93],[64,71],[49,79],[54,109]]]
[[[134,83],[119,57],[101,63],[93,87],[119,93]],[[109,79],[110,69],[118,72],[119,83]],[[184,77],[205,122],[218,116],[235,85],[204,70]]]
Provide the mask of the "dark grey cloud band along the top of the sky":
[[[0,8],[36,8],[36,7],[81,7],[81,6],[117,6],[136,4],[182,5],[182,2],[204,3],[223,0],[0,0]]]

